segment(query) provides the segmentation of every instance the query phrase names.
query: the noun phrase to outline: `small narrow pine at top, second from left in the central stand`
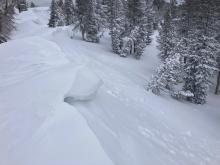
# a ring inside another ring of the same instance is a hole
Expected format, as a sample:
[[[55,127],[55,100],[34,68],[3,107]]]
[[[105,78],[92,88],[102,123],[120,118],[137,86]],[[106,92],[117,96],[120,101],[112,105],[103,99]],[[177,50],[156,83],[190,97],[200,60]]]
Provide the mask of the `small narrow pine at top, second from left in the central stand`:
[[[73,0],[65,0],[64,2],[65,24],[71,25],[74,20],[74,4]]]

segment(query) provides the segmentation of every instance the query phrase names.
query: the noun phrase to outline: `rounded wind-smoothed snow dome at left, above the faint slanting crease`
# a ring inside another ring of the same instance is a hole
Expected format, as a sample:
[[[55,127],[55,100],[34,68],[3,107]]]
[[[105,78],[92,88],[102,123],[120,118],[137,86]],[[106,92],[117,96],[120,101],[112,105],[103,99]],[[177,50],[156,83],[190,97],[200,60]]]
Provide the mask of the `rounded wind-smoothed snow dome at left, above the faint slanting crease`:
[[[7,42],[0,46],[0,52],[0,88],[68,63],[55,43],[40,37]]]

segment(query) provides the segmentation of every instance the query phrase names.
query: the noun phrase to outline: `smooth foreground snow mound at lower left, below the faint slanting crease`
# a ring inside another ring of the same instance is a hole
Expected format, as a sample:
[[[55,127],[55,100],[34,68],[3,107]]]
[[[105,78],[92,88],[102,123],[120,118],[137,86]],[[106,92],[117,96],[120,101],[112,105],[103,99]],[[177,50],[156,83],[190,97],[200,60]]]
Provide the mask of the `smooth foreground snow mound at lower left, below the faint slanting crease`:
[[[1,89],[1,165],[113,164],[85,119],[63,102],[76,71],[62,65]]]

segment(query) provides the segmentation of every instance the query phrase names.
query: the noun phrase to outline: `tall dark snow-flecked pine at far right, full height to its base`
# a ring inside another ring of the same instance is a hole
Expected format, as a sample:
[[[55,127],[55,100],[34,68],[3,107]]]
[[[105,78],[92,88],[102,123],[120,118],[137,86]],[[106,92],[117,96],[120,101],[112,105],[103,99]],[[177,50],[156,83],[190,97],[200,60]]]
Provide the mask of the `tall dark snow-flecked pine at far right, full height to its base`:
[[[206,102],[207,91],[210,86],[210,78],[217,67],[217,53],[219,44],[214,39],[216,33],[213,1],[186,0],[184,7],[185,23],[184,31],[187,47],[187,55],[184,63],[184,90],[189,90],[194,97],[188,98],[196,104]],[[187,27],[185,29],[185,27]]]

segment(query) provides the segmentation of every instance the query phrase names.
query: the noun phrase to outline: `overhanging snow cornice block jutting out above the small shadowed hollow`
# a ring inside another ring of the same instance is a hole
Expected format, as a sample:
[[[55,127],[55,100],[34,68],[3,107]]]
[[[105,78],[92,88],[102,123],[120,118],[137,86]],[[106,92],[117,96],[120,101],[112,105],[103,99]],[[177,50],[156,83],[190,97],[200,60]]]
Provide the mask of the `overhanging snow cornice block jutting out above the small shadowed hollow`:
[[[96,96],[103,81],[89,68],[82,67],[75,75],[72,88],[65,95],[64,101],[72,103],[75,101],[89,101]]]

